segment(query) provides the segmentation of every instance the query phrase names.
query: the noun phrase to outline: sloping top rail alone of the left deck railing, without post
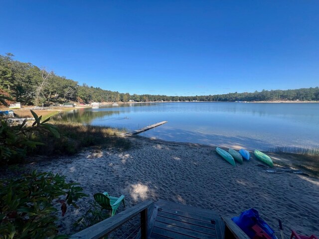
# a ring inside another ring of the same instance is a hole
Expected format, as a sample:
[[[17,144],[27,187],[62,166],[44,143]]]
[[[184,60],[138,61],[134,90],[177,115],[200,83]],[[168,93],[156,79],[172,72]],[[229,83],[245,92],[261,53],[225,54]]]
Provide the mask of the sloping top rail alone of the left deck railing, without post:
[[[111,218],[108,218],[102,222],[99,222],[81,232],[78,232],[70,237],[70,239],[100,239],[109,234],[123,223],[127,222],[134,216],[141,213],[152,205],[152,201],[145,201],[132,208],[120,212]]]

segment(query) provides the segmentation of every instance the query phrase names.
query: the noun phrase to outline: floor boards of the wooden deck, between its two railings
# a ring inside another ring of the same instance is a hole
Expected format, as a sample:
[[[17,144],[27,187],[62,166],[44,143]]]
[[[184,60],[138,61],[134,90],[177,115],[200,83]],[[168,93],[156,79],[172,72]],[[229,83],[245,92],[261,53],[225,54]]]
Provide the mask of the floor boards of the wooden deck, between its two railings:
[[[214,211],[159,200],[149,235],[151,239],[223,239],[224,223]]]

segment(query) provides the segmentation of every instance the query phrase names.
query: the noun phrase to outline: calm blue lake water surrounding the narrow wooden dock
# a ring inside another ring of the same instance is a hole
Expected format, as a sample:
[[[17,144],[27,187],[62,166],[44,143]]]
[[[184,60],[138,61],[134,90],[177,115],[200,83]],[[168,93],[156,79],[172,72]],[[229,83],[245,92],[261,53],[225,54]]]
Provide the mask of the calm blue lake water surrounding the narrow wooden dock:
[[[126,104],[74,110],[59,119],[128,130],[167,120],[141,135],[261,150],[275,146],[319,147],[318,103]]]

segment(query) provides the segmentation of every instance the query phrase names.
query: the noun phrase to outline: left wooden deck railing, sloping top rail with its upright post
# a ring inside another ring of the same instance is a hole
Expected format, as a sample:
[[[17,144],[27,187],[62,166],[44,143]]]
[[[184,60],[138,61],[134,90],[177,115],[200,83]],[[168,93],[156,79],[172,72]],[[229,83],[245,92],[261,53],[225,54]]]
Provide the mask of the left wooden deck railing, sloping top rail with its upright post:
[[[148,208],[153,205],[152,201],[145,201],[132,208],[122,211],[102,222],[99,222],[81,232],[78,232],[70,237],[70,239],[101,239],[109,233],[119,228],[121,225],[141,214],[141,239],[148,237]]]

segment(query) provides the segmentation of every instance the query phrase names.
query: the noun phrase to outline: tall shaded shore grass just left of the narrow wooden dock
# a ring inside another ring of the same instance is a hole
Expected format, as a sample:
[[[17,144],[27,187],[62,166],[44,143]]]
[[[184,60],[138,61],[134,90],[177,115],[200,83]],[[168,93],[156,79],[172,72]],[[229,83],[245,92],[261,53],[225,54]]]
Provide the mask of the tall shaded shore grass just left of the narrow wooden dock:
[[[60,138],[47,134],[35,135],[35,138],[45,145],[38,146],[30,153],[41,155],[72,155],[88,146],[103,146],[118,150],[127,150],[131,141],[122,137],[122,131],[104,126],[83,125],[81,123],[59,122]]]

